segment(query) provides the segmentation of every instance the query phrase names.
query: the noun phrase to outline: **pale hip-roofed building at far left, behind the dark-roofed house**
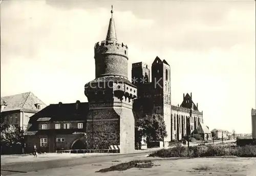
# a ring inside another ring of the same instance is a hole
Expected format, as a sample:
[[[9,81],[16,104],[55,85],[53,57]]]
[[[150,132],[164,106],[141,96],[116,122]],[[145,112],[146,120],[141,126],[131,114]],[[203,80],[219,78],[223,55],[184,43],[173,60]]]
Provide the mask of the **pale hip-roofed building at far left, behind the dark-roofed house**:
[[[32,92],[1,97],[1,123],[27,128],[29,118],[47,105]]]

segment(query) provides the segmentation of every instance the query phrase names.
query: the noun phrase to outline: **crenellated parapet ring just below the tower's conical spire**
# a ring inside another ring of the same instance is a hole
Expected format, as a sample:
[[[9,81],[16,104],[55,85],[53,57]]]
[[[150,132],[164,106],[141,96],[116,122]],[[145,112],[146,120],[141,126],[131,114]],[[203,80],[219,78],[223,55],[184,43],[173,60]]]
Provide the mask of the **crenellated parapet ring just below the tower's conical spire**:
[[[103,40],[95,43],[94,46],[94,58],[101,54],[117,54],[128,59],[128,47],[124,43],[118,43],[116,41]]]

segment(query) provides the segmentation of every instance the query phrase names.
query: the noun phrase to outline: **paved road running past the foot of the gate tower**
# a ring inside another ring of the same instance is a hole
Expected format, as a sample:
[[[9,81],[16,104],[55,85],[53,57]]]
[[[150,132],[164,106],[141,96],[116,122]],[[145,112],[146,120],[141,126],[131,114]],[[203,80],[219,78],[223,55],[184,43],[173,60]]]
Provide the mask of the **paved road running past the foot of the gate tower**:
[[[230,141],[224,141],[226,142],[232,142]],[[216,142],[221,143],[221,142]],[[198,144],[193,144],[198,145]],[[154,149],[155,150],[155,149]],[[153,151],[154,151],[153,150]],[[96,155],[96,156],[82,156],[78,158],[59,158],[55,160],[48,160],[48,161],[26,161],[26,162],[15,162],[15,163],[1,163],[1,174],[2,176],[5,175],[11,175],[16,173],[27,173],[32,171],[38,171],[38,170],[45,170],[45,169],[52,169],[52,168],[60,168],[60,167],[73,167],[78,165],[84,165],[84,164],[99,164],[102,162],[108,162],[113,160],[120,160],[120,159],[131,159],[133,157],[138,156],[146,156],[149,153],[153,152],[151,151],[145,151],[140,153],[132,153],[132,154],[118,154],[118,155]],[[38,158],[39,159],[39,158]]]

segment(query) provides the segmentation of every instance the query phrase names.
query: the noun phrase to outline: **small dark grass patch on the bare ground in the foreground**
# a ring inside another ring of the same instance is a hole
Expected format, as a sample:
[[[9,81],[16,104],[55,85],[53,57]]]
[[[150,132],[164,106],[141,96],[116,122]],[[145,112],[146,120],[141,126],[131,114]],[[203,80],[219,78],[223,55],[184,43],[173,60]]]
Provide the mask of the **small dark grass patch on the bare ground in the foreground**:
[[[134,160],[127,163],[121,163],[115,166],[111,166],[109,168],[100,169],[96,172],[110,172],[110,171],[124,171],[131,168],[152,168],[154,164],[151,160]]]

